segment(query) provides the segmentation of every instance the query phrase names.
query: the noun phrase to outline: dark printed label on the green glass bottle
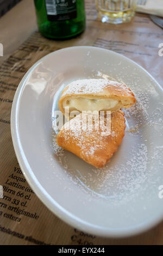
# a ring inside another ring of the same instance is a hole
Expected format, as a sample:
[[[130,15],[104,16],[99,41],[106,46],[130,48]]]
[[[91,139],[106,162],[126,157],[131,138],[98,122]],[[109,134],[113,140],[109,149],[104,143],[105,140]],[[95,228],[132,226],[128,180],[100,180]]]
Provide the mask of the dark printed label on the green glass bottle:
[[[71,20],[77,17],[76,0],[45,0],[49,21]]]

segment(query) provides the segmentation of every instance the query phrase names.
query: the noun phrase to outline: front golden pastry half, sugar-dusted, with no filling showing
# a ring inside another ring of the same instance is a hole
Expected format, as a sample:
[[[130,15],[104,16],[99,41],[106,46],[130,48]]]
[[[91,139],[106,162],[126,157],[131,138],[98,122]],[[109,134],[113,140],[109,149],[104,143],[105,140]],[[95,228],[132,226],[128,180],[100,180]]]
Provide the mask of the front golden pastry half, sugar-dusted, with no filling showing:
[[[88,118],[90,114],[85,114]],[[90,130],[82,129],[82,113],[67,122],[60,130],[57,136],[57,143],[76,156],[82,158],[85,162],[97,167],[103,168],[109,162],[112,154],[120,146],[124,130],[126,128],[123,111],[119,110],[111,113],[111,132],[110,135],[103,135],[103,127],[95,129],[97,115],[93,116]],[[107,122],[105,115],[105,124]],[[69,126],[67,126],[69,124]]]

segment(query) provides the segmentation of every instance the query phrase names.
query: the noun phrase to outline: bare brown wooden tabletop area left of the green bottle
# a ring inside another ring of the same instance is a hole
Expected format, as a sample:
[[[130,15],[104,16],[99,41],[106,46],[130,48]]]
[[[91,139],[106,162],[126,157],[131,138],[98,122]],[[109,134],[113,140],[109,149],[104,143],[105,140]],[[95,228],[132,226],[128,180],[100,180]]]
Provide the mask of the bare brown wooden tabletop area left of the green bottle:
[[[7,59],[34,31],[37,30],[33,0],[23,0],[0,20],[0,40],[4,56],[0,64]]]

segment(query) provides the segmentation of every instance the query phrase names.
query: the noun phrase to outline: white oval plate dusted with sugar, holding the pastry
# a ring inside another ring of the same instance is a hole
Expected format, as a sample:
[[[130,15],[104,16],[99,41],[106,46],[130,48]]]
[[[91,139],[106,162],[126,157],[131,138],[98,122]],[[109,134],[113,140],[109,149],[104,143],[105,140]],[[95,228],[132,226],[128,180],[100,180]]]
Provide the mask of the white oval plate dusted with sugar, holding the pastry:
[[[57,148],[52,129],[61,88],[84,78],[122,81],[137,99],[104,169]],[[162,96],[145,69],[116,52],[77,46],[41,58],[20,82],[11,111],[16,156],[36,195],[63,221],[96,235],[133,235],[161,221]]]

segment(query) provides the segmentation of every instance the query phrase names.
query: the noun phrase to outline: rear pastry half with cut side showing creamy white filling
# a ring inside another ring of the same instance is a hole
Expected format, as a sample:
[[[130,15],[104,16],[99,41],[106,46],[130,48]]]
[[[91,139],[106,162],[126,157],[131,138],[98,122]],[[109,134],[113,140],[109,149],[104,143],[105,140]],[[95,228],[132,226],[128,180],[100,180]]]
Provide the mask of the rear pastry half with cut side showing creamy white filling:
[[[71,82],[61,94],[59,109],[69,111],[117,111],[136,102],[133,92],[124,84],[107,79],[84,79]]]

